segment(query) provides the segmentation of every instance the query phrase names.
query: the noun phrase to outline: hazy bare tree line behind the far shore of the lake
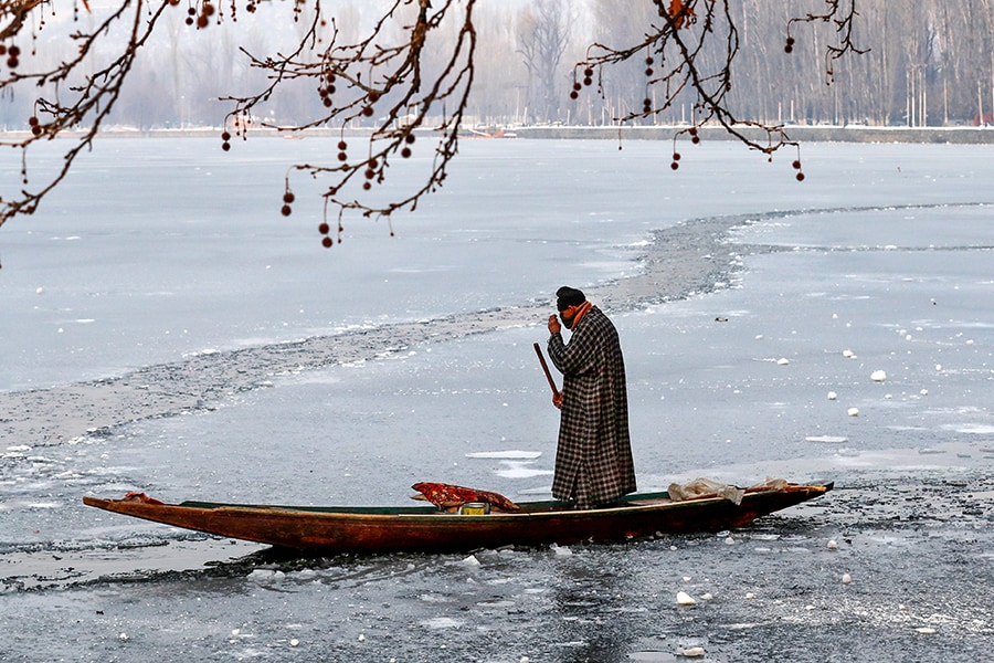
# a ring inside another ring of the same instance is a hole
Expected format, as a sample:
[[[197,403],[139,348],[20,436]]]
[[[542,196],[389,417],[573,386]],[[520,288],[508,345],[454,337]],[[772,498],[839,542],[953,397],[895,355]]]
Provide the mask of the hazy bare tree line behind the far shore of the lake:
[[[368,2],[338,3],[339,28],[366,20]],[[374,4],[374,3],[373,3]],[[762,123],[947,126],[992,120],[994,110],[994,1],[866,0],[858,6],[854,41],[867,52],[833,63],[824,53],[833,24],[805,24],[792,32],[793,53],[784,52],[787,23],[796,3],[742,0],[736,12],[740,51],[729,105],[742,119]],[[814,4],[813,4],[814,6]],[[606,125],[637,110],[646,94],[641,62],[614,67],[600,81],[601,93],[569,96],[573,65],[591,43],[637,41],[658,22],[651,0],[531,0],[484,3],[478,25],[477,76],[467,124]],[[350,19],[351,18],[351,19]],[[146,48],[121,94],[114,124],[138,129],[219,126],[226,112],[220,90],[260,87],[265,74],[248,66],[241,48],[273,50],[286,27],[222,24],[197,33],[183,15],[165,15],[167,30]],[[244,23],[244,21],[243,21]],[[293,30],[294,27],[288,27]],[[453,33],[455,36],[455,33]],[[705,54],[707,55],[707,54]],[[39,50],[39,56],[59,57]],[[715,53],[713,57],[725,57]],[[828,84],[831,82],[831,85]],[[665,113],[641,124],[692,122],[688,94]],[[21,99],[28,106],[31,99]],[[293,124],[313,116],[319,99],[311,90],[283,93],[267,108],[274,122]],[[22,104],[0,106],[0,123],[20,128],[30,115]]]

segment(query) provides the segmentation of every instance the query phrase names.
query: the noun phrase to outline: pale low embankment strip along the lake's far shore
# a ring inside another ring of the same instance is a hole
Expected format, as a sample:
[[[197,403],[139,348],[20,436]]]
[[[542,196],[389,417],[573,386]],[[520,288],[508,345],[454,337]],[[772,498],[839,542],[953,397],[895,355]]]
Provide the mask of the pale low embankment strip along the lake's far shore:
[[[503,128],[499,139],[533,140],[673,140],[689,125],[679,126],[529,126]],[[187,129],[129,129],[123,127],[107,128],[101,131],[99,138],[215,138],[220,140],[220,127],[198,127]],[[742,135],[764,143],[765,133],[755,127],[742,127]],[[369,135],[370,128],[355,129],[308,129],[307,131],[282,131],[271,128],[250,129],[252,136],[279,136],[286,139],[327,136],[362,136]],[[417,129],[430,133],[431,129]],[[906,143],[906,144],[954,144],[954,145],[992,145],[994,144],[994,126],[986,127],[880,127],[868,125],[784,125],[784,133],[797,143]],[[734,140],[723,127],[702,126],[698,134],[705,140]],[[28,137],[28,131],[0,133],[6,139]],[[61,137],[73,138],[78,134],[70,133]],[[485,135],[466,136],[466,140],[488,140]],[[689,140],[684,134],[680,139]]]

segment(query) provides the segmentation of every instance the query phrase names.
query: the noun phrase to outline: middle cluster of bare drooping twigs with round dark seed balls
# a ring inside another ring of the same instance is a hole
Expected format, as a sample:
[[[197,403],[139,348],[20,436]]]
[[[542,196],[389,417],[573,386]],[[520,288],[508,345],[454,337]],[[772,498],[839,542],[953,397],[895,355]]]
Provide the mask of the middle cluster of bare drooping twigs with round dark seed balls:
[[[315,49],[322,43],[321,29],[326,25],[320,2],[316,1],[314,17],[299,48],[292,54],[278,59],[252,57],[253,66],[271,72],[271,84],[262,92],[246,97],[226,97],[233,102],[230,117],[236,120],[237,133],[250,126],[252,110],[264,103],[287,80],[308,78],[318,83],[327,113],[306,124],[277,126],[284,131],[299,131],[311,127],[338,125],[342,128],[362,118],[379,116],[366,152],[349,155],[348,143],[342,136],[338,143],[338,165],[300,164],[294,168],[311,177],[331,176],[335,181],[324,193],[326,214],[328,208],[337,208],[337,233],[341,233],[341,215],[347,210],[357,210],[366,217],[389,217],[402,208],[411,210],[417,201],[438,187],[446,177],[448,162],[458,151],[458,128],[463,120],[475,74],[474,52],[476,30],[473,25],[473,7],[476,0],[468,0],[462,8],[462,21],[448,61],[433,78],[425,80],[422,69],[425,49],[432,44],[433,31],[437,31],[445,19],[457,11],[457,0],[445,0],[433,8],[430,0],[417,0],[416,14],[403,24],[405,40],[390,43],[389,28],[403,21],[402,13],[412,0],[395,0],[383,18],[376,23],[363,40],[356,43],[340,43],[340,32],[330,21],[330,39],[324,49]],[[448,110],[451,108],[451,110]],[[348,186],[352,180],[361,190],[369,191],[387,179],[391,160],[398,156],[413,155],[414,143],[420,134],[415,129],[425,127],[431,114],[442,114],[442,122],[430,127],[437,133],[434,158],[423,183],[413,191],[393,197],[387,203],[360,200]],[[262,123],[263,126],[266,123]],[[229,145],[230,134],[222,136]],[[364,180],[364,181],[361,181]],[[361,185],[359,185],[361,181]],[[287,181],[283,213],[292,212],[295,197]],[[332,243],[331,228],[326,218],[319,228],[325,245]]]

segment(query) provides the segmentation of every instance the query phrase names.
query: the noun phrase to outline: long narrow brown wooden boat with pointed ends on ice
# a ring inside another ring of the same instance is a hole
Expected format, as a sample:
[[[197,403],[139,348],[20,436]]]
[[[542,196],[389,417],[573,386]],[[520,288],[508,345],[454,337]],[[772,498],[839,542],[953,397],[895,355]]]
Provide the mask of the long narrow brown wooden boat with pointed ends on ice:
[[[144,495],[87,496],[83,502],[146,520],[313,555],[440,552],[721,532],[824,495],[832,487],[832,483],[752,487],[744,491],[740,504],[717,494],[673,501],[665,492],[628,495],[616,507],[592,511],[572,509],[561,502],[531,502],[519,503],[517,513],[486,515],[446,513],[434,506],[163,504]]]

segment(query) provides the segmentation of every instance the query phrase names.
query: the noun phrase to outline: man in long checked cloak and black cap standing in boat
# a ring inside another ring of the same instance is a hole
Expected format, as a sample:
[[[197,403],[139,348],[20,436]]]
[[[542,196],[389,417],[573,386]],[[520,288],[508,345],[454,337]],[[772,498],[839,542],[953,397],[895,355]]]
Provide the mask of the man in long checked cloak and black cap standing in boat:
[[[552,398],[560,409],[559,445],[552,496],[577,508],[611,506],[635,492],[635,463],[628,438],[625,361],[617,330],[600,308],[575,288],[556,292],[562,326],[549,316],[549,356],[563,376]]]

